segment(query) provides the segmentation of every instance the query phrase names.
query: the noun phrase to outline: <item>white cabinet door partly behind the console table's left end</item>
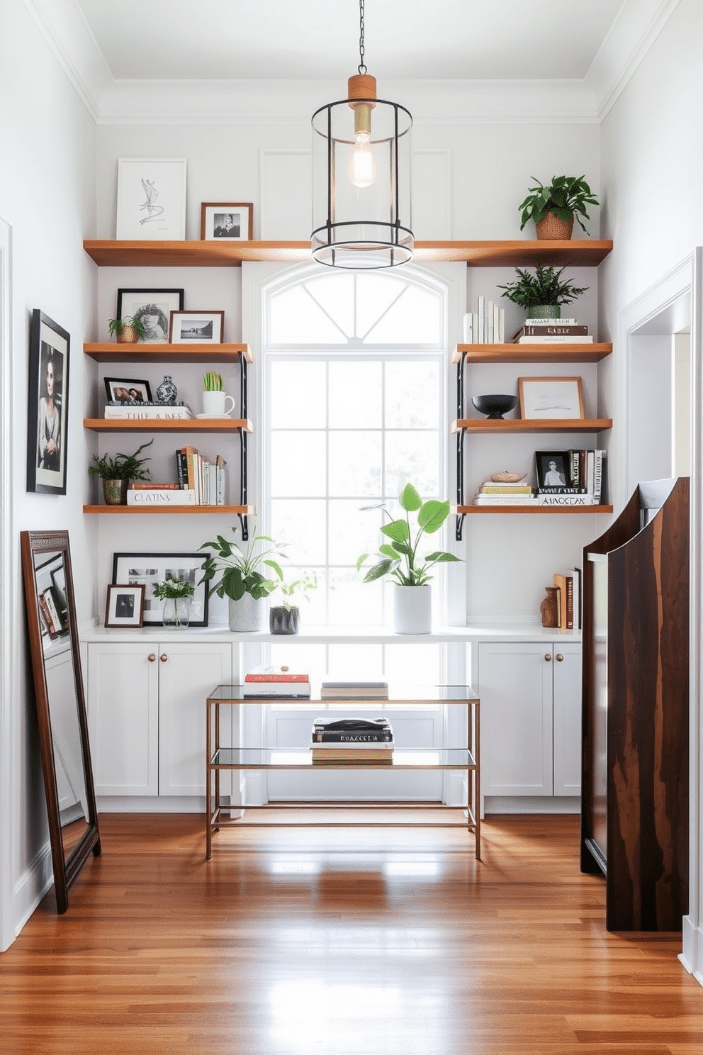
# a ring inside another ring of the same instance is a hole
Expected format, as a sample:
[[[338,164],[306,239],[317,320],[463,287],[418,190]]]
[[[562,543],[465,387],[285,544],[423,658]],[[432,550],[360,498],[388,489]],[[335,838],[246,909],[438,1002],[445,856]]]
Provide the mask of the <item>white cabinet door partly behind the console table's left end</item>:
[[[161,641],[158,668],[159,794],[204,795],[206,699],[232,680],[232,646]],[[229,721],[232,708],[223,710]],[[228,743],[227,729],[221,735]]]

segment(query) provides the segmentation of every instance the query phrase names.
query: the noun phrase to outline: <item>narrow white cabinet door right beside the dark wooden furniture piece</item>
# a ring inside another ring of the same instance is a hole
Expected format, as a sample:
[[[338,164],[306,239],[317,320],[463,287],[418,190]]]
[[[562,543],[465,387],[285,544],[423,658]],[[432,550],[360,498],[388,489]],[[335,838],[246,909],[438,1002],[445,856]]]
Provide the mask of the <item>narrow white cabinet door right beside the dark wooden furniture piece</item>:
[[[553,647],[554,794],[581,794],[581,646]],[[560,659],[559,657],[562,656]]]

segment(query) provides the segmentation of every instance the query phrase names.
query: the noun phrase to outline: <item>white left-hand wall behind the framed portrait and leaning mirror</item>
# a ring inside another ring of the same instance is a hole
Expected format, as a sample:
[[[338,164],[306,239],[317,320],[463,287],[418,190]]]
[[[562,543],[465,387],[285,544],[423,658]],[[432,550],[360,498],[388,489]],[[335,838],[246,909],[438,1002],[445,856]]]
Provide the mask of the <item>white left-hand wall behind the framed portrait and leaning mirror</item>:
[[[26,684],[24,606],[19,533],[65,529],[86,574],[77,576],[79,621],[94,611],[92,565],[94,525],[81,514],[87,495],[85,441],[81,421],[86,390],[82,362],[84,334],[94,327],[95,269],[81,239],[95,229],[95,127],[21,0],[0,0],[0,215],[12,228],[12,448],[1,452],[7,468],[3,502],[12,504],[12,548],[7,650],[13,656],[13,691],[0,706],[9,709],[11,773],[3,793],[13,801],[13,830],[2,832],[3,856],[12,856],[3,918],[19,929],[33,910],[46,872],[46,820],[34,704]],[[41,308],[71,333],[67,487],[65,497],[25,492],[27,358],[32,310]],[[43,879],[42,879],[43,877]],[[3,943],[12,940],[3,934]]]

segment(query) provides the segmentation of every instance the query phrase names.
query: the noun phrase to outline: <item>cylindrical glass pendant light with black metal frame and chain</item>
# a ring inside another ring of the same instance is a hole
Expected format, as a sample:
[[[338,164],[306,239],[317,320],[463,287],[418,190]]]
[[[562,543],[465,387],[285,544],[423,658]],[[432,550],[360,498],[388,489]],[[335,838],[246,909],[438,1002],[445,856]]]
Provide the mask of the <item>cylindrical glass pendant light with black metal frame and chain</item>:
[[[312,255],[343,268],[382,268],[412,258],[410,130],[397,102],[376,98],[364,62],[359,0],[358,73],[348,98],[312,117]]]

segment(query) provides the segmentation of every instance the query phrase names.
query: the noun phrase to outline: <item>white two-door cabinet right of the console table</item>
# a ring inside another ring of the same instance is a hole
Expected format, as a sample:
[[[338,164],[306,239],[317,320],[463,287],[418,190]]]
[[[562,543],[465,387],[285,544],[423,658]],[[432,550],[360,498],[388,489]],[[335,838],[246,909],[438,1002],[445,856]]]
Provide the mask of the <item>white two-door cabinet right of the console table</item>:
[[[581,646],[479,645],[482,790],[486,795],[581,791]]]

